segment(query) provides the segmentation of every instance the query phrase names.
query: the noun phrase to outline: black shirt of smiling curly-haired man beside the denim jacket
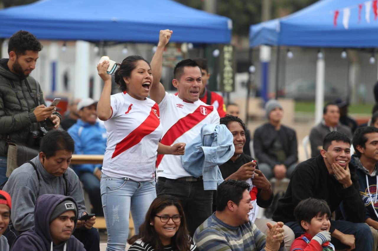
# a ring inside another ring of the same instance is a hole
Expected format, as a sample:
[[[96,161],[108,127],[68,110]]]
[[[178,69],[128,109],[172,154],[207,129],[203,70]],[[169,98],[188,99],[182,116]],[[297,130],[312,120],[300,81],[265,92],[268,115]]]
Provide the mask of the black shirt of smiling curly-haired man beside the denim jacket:
[[[239,158],[237,158],[234,161],[232,161],[231,159],[229,159],[226,163],[222,164],[219,166],[219,169],[220,169],[220,172],[222,173],[222,177],[223,179],[226,179],[228,178],[231,174],[235,173],[237,170],[239,170],[239,168],[248,163],[248,162],[251,162],[253,161],[254,158],[252,158],[251,156],[249,155],[246,155],[244,153],[242,153]],[[258,166],[256,166],[256,169],[259,169]],[[262,207],[262,208],[267,208],[270,206],[270,204],[272,203],[272,200],[273,200],[273,194],[272,196],[270,197],[269,200],[263,200],[260,196],[260,192],[261,192],[261,189],[260,188],[257,188],[257,196],[256,196],[256,203],[259,207]],[[214,191],[214,200],[213,200],[213,212],[215,211],[215,195],[216,195],[216,191]]]

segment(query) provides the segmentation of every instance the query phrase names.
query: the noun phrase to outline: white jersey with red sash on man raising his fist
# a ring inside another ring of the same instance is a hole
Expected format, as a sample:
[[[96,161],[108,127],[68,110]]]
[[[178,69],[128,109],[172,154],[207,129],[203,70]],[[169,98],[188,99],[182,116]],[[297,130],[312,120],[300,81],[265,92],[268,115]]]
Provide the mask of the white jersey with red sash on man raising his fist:
[[[217,110],[201,100],[189,103],[166,92],[159,108],[163,126],[163,138],[160,142],[164,145],[173,145],[178,142],[188,144],[201,133],[201,127],[204,124],[219,124]],[[184,170],[180,156],[158,155],[156,167],[158,177],[178,179],[191,176]]]

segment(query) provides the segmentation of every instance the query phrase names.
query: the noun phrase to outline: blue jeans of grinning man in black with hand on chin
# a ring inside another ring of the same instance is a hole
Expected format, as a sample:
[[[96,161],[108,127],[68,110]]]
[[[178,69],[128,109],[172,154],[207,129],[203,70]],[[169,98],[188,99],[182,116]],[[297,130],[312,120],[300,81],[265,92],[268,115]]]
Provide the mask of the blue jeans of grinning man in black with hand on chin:
[[[331,226],[335,227],[341,233],[353,234],[355,236],[356,248],[353,250],[355,251],[372,250],[373,236],[372,236],[370,227],[366,223],[353,223],[353,222],[344,221],[344,220],[330,220],[330,222],[331,222]],[[295,238],[301,236],[301,234],[304,234],[304,231],[302,230],[301,227],[299,227],[299,224],[296,221],[286,222],[285,225],[287,225],[288,227],[291,228],[291,230],[293,230],[295,234]],[[335,237],[332,237],[331,243],[335,245],[336,249],[349,248],[349,246],[342,244]]]

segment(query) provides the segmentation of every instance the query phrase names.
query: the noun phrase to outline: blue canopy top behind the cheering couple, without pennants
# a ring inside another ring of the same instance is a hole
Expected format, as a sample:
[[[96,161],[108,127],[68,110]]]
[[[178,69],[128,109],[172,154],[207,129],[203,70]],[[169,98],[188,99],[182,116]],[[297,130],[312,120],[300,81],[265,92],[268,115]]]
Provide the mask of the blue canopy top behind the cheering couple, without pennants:
[[[0,37],[20,29],[39,39],[156,43],[159,30],[174,31],[172,42],[231,41],[229,18],[172,0],[41,0],[0,11]]]

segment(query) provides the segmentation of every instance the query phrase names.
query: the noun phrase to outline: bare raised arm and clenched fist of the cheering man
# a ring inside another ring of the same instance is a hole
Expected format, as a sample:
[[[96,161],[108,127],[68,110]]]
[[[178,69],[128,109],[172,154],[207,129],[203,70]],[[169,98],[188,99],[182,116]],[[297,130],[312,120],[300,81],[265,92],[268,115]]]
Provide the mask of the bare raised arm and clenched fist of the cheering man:
[[[161,70],[163,68],[164,47],[169,42],[171,35],[172,31],[168,29],[160,31],[158,48],[156,49],[155,55],[153,55],[151,60],[153,83],[150,90],[150,97],[158,104],[160,104],[165,96],[164,86],[160,83],[160,78]]]

